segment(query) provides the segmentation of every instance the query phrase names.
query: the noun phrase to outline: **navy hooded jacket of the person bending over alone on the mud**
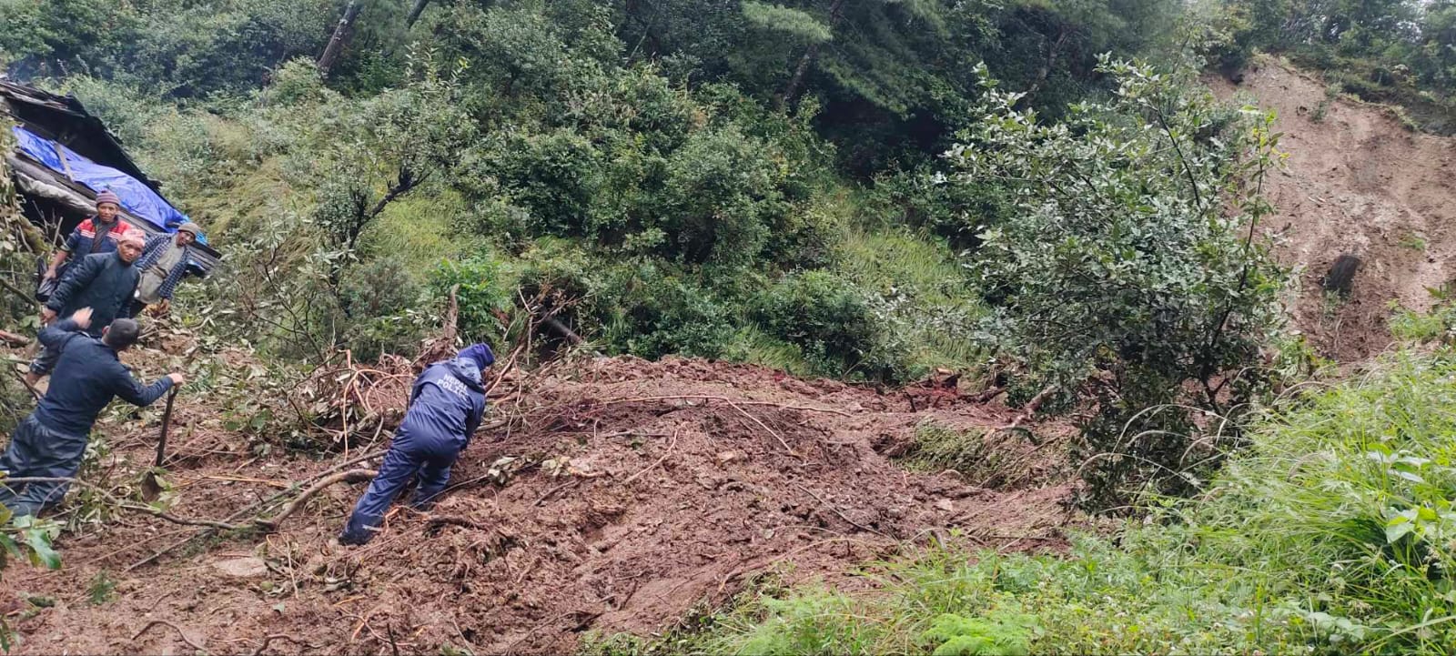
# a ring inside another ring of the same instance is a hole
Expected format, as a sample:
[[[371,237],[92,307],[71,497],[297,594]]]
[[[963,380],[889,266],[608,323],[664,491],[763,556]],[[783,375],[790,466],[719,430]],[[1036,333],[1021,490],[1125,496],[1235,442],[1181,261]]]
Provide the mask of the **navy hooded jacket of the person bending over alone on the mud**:
[[[485,416],[485,385],[475,362],[435,362],[415,378],[409,412],[395,439],[457,444],[464,448]]]

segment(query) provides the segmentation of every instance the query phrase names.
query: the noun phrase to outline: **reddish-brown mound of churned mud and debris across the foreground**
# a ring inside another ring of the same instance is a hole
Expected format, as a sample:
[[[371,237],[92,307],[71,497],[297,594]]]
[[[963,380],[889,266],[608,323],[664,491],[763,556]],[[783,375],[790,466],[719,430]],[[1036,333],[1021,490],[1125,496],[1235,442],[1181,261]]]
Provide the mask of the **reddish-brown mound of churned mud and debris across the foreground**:
[[[524,428],[478,438],[453,474],[462,487],[430,515],[396,509],[367,547],[332,544],[363,483],[326,489],[274,534],[197,541],[130,572],[198,528],[127,513],[63,535],[61,570],[6,570],[0,607],[17,609],[17,653],[191,653],[185,640],[253,653],[282,634],[269,653],[561,653],[585,630],[662,630],[764,572],[853,589],[868,585],[846,575],[856,564],[932,537],[1064,545],[1067,487],[1026,483],[1045,476],[983,489],[890,460],[923,420],[990,429],[1015,419],[954,388],[879,393],[692,359],[555,371],[572,374],[505,396],[498,413],[518,412],[513,426]],[[255,460],[205,401],[179,400],[176,515],[223,518],[342,461]],[[159,415],[100,428],[119,445],[112,481],[146,464]],[[1025,463],[1059,458],[1056,445],[999,439]],[[92,605],[100,572],[116,596]]]

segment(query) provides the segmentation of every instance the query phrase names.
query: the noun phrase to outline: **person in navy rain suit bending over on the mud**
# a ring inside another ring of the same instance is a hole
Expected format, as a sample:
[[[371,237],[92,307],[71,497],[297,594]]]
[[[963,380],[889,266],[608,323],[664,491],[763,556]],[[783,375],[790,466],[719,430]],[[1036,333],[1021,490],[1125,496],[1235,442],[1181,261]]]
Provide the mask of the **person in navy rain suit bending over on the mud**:
[[[374,538],[384,511],[409,483],[419,479],[411,505],[428,511],[450,481],[450,467],[470,444],[485,416],[485,385],[480,372],[495,364],[491,348],[478,343],[456,359],[425,368],[409,393],[409,410],[384,454],[379,474],[349,515],[339,544],[364,544]]]

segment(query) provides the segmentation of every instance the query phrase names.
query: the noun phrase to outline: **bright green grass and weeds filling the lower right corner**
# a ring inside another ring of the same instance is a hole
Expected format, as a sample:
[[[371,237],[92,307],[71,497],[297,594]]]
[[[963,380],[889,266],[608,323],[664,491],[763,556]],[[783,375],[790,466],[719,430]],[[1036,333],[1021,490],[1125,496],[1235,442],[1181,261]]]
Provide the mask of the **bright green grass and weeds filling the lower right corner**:
[[[1191,500],[1066,556],[927,548],[875,589],[763,588],[606,652],[1427,653],[1456,644],[1456,355],[1278,406]]]

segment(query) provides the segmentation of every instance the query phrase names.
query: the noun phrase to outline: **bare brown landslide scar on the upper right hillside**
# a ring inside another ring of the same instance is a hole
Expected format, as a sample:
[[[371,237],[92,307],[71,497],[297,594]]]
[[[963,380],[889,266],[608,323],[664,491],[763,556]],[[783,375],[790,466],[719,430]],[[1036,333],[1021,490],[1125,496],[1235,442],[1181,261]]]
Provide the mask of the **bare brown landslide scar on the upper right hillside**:
[[[1275,212],[1264,228],[1296,266],[1296,326],[1322,355],[1357,362],[1390,345],[1390,303],[1424,310],[1427,288],[1456,273],[1456,143],[1405,129],[1386,108],[1329,99],[1325,84],[1261,58],[1222,96],[1252,96],[1278,115],[1287,170],[1268,179]],[[1326,298],[1322,278],[1341,255],[1361,265],[1350,298]]]

